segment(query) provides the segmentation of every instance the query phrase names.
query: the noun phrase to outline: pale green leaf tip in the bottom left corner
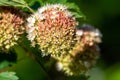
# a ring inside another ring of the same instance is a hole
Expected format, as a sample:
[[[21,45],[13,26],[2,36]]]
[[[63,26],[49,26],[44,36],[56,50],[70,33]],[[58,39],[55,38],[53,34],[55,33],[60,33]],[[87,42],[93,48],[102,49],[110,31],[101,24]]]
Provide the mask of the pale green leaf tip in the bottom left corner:
[[[0,73],[0,80],[18,80],[15,72],[2,72]]]

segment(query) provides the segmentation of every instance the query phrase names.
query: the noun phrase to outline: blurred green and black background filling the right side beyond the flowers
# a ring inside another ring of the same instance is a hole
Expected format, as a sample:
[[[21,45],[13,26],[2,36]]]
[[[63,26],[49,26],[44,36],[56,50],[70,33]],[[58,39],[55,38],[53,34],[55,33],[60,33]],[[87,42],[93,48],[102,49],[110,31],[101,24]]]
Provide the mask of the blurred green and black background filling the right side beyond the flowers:
[[[71,0],[72,1],[72,0]],[[103,34],[101,57],[90,80],[120,80],[120,0],[75,0],[87,23]]]

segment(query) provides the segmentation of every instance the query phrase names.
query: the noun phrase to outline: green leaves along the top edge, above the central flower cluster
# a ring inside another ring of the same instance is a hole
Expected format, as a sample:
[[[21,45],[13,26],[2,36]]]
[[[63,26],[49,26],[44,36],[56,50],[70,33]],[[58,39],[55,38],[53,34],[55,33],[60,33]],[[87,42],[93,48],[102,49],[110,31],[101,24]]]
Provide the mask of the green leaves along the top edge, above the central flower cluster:
[[[81,12],[78,5],[76,5],[74,2],[68,2],[67,0],[0,0],[0,6],[14,6],[14,7],[22,7],[22,8],[28,8],[30,12],[34,12],[29,6],[35,6],[35,2],[40,3],[41,6],[45,4],[64,4],[68,6],[68,8],[73,13],[74,17],[76,18],[84,18],[85,15]],[[29,5],[29,6],[28,6]]]

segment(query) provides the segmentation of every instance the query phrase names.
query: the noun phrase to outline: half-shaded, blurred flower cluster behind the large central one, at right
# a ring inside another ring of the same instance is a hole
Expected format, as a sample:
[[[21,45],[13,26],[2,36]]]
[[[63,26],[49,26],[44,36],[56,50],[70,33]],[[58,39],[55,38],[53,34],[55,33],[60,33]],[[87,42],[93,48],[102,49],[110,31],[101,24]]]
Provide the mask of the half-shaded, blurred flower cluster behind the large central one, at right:
[[[84,24],[76,30],[77,42],[67,56],[58,57],[57,69],[68,75],[80,75],[89,71],[99,57],[101,33],[90,25]]]

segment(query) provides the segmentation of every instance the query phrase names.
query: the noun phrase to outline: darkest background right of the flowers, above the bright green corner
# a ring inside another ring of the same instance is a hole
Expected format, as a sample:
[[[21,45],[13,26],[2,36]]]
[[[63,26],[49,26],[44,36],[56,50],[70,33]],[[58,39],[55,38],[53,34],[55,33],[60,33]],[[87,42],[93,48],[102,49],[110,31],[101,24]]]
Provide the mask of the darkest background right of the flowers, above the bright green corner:
[[[73,1],[73,0],[70,0]],[[120,0],[74,0],[87,16],[87,23],[103,34],[102,59],[108,65],[120,61]]]

